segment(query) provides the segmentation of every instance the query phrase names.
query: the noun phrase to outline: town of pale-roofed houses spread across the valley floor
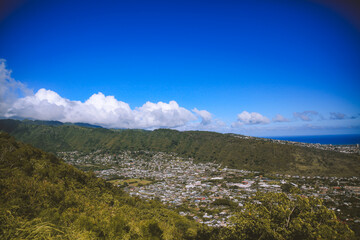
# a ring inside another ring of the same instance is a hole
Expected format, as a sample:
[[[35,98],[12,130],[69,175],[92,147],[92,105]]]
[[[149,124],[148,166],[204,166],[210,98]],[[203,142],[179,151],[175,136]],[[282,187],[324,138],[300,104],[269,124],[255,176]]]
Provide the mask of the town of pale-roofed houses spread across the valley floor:
[[[158,200],[209,226],[227,226],[234,211],[241,211],[257,192],[286,192],[318,197],[343,221],[358,224],[360,179],[266,174],[230,169],[217,163],[195,163],[175,153],[96,151],[58,153],[83,170],[92,170],[132,196]]]

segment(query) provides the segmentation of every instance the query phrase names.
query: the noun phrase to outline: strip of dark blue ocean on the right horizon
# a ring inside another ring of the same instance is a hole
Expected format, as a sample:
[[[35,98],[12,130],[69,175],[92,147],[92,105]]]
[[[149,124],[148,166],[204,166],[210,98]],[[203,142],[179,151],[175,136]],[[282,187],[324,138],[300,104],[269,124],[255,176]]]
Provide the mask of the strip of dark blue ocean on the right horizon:
[[[360,134],[265,137],[277,140],[332,145],[360,144]]]

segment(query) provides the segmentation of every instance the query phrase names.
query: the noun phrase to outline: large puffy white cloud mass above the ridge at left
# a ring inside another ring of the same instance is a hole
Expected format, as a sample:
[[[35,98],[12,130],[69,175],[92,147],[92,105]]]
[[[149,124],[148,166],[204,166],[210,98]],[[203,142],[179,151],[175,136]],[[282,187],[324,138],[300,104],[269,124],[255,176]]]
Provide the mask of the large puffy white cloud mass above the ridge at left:
[[[191,111],[180,107],[177,102],[146,102],[141,107],[131,109],[129,104],[117,100],[114,96],[105,96],[99,92],[85,102],[72,101],[58,93],[40,89],[35,94],[21,82],[10,77],[11,71],[0,62],[0,116],[21,117],[39,120],[57,120],[61,122],[86,122],[105,127],[175,128],[184,126],[198,118]],[[206,125],[211,114],[206,110],[194,111]]]

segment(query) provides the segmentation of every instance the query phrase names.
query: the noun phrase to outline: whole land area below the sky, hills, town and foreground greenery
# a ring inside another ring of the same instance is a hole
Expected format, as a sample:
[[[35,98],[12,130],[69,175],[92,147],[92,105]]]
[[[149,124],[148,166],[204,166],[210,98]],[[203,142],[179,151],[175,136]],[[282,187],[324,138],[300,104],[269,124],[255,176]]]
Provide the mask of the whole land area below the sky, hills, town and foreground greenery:
[[[37,224],[59,239],[360,236],[357,146],[10,119],[0,130],[0,236]]]

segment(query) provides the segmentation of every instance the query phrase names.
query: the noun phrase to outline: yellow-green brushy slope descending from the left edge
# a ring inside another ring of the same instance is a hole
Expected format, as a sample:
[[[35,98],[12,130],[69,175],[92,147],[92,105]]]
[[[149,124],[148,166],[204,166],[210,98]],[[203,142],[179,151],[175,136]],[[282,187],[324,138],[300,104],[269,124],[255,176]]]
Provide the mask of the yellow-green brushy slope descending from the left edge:
[[[199,225],[0,133],[0,239],[196,239]],[[205,230],[204,230],[205,231]]]

